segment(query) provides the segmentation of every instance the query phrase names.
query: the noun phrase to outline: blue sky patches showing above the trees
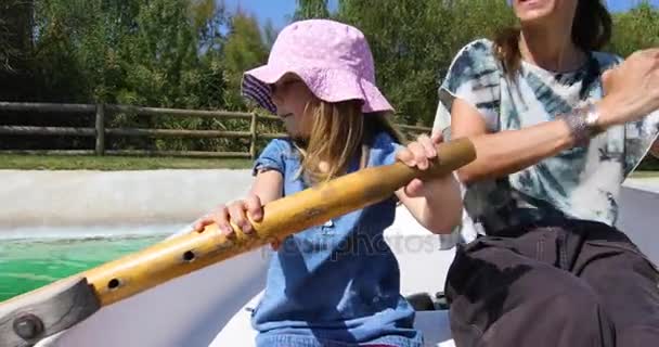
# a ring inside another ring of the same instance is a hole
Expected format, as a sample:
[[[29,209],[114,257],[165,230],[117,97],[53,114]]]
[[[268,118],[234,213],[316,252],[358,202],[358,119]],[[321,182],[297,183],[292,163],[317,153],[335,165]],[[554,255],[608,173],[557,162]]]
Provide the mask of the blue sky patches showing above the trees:
[[[624,11],[641,0],[607,0],[608,8],[611,11]],[[330,10],[336,9],[337,0],[330,0]],[[295,0],[224,0],[224,4],[230,12],[235,12],[240,5],[247,13],[253,13],[257,16],[260,23],[264,23],[268,18],[272,21],[275,28],[284,27],[293,13],[295,12]],[[650,0],[650,3],[659,7],[659,0]]]

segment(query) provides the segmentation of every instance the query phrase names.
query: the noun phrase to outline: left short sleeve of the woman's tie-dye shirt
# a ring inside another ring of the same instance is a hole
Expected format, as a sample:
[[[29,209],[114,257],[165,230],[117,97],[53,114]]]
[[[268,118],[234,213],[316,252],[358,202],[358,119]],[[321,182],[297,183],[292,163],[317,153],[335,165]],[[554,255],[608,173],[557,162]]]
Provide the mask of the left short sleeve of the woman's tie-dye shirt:
[[[458,98],[480,112],[490,130],[496,129],[502,68],[492,53],[492,44],[486,39],[476,40],[455,55],[439,88],[435,128],[451,125],[451,107]]]

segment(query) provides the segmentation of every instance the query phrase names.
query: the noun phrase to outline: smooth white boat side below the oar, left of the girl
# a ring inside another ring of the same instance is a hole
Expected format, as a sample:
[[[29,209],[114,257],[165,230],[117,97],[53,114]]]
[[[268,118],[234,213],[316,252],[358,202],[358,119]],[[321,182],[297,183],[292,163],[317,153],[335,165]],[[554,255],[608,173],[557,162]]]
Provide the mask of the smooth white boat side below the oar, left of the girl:
[[[204,268],[104,307],[39,346],[208,346],[263,288],[267,264],[251,252]]]

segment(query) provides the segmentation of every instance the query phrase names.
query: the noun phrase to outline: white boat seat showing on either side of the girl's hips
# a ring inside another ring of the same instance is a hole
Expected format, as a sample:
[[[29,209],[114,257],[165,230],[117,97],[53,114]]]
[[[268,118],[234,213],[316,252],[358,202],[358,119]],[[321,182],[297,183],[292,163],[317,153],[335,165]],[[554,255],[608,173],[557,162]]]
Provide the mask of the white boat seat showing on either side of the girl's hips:
[[[255,347],[256,331],[251,327],[251,309],[257,306],[262,292],[237,311],[209,347],[242,346]],[[424,346],[455,347],[451,338],[448,310],[417,311],[414,326],[424,334]]]

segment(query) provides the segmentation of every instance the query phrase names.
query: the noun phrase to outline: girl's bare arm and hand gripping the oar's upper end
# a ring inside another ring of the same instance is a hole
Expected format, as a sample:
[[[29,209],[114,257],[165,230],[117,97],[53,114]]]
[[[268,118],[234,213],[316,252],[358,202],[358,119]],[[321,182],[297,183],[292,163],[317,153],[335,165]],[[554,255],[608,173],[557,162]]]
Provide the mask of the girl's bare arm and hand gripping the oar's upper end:
[[[432,139],[422,136],[397,153],[397,157],[409,166],[426,169],[428,160],[437,157],[435,146],[439,142],[439,133]],[[398,190],[396,196],[422,226],[434,233],[451,233],[462,220],[462,195],[453,175],[428,181],[415,179]]]

